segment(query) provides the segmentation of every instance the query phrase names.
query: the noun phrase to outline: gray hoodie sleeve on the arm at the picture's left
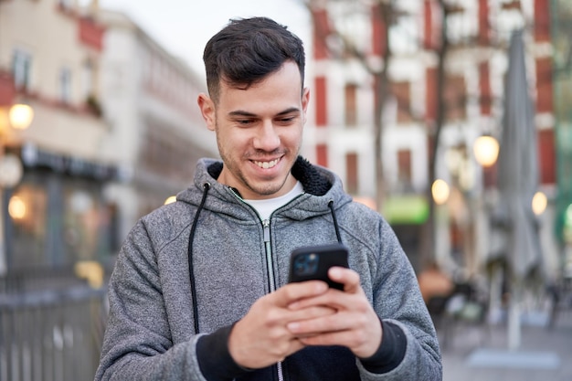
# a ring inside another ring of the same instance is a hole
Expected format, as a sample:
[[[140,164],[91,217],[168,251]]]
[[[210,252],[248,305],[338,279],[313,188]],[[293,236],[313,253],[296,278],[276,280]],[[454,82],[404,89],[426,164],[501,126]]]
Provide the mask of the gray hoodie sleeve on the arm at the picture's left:
[[[122,246],[109,284],[110,312],[95,380],[197,380],[199,336],[173,344],[155,249],[143,222]]]

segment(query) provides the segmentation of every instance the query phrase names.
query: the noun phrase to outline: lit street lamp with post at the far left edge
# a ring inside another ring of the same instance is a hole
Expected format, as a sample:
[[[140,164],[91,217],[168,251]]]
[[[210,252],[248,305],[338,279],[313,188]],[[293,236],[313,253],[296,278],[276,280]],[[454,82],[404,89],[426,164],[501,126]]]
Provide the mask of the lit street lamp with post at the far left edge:
[[[5,154],[5,138],[10,128],[26,130],[34,119],[34,110],[17,103],[0,106],[0,276],[7,271],[4,241],[4,188],[18,184],[23,175],[22,162],[15,154]]]

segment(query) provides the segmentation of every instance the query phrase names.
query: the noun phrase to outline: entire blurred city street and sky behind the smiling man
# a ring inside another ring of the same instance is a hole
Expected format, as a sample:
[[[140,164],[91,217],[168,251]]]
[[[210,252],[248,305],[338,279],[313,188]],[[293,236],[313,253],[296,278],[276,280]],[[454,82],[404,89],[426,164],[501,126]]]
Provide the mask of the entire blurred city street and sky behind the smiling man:
[[[206,3],[0,0],[0,380],[93,378],[122,240],[217,157],[202,50],[237,16],[302,37],[302,154],[395,229],[445,379],[572,379],[572,4]]]

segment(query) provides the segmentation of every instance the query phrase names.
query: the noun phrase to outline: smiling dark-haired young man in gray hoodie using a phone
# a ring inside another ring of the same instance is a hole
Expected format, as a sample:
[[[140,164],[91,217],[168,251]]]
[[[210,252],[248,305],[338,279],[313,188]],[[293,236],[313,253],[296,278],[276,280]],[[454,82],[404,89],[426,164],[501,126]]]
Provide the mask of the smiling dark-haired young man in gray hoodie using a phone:
[[[268,18],[207,43],[198,106],[222,162],[126,239],[96,380],[440,380],[415,274],[387,222],[299,156],[302,41]],[[342,242],[350,269],[288,282],[293,249]]]

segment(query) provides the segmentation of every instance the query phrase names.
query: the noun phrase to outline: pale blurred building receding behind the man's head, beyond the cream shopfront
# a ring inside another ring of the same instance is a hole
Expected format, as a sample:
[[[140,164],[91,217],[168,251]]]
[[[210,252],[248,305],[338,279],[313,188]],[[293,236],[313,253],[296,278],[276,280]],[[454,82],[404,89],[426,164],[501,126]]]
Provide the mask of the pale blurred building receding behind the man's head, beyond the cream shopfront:
[[[196,96],[206,82],[121,13],[101,11],[106,26],[101,100],[112,126],[113,154],[122,182],[106,188],[118,206],[119,235],[139,217],[191,184],[199,157],[217,157]]]

